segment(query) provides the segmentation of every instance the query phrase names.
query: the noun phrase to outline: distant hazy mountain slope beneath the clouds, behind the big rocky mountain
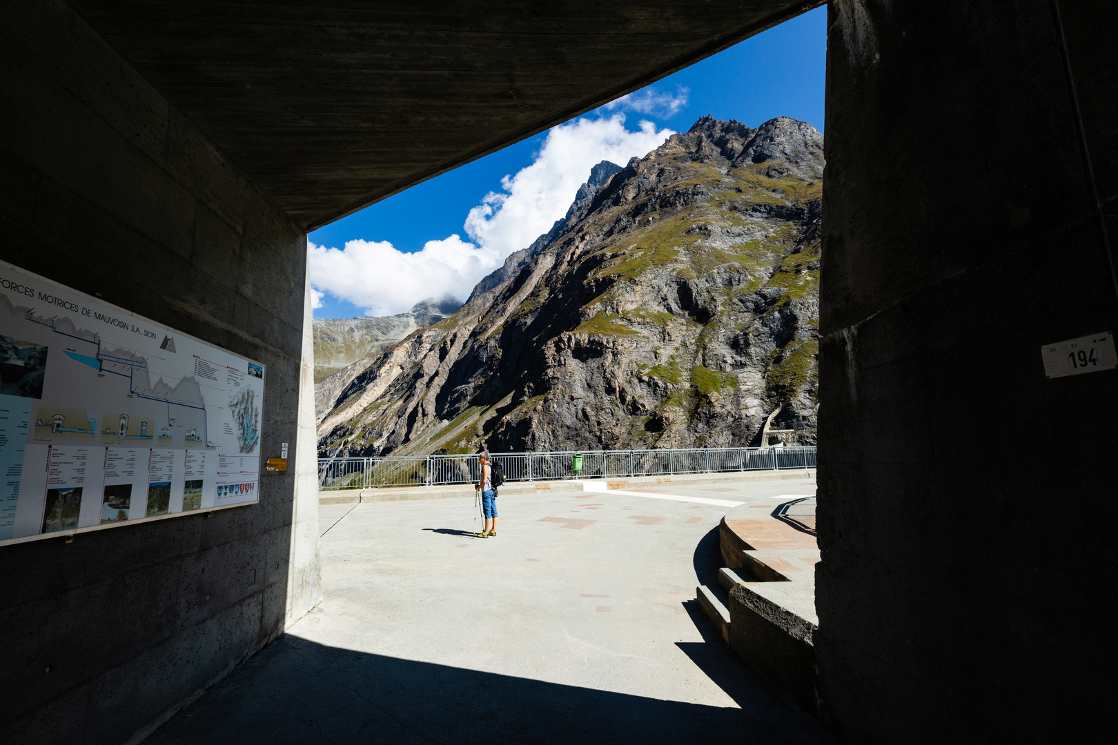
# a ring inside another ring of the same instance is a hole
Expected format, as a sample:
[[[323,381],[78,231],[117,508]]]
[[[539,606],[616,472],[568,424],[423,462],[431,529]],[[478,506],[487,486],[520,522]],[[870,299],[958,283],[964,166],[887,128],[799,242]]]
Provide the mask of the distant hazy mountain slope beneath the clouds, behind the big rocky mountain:
[[[319,418],[326,414],[329,402],[363,372],[383,347],[416,328],[438,323],[459,307],[462,303],[453,297],[430,297],[395,316],[315,318],[314,407]]]

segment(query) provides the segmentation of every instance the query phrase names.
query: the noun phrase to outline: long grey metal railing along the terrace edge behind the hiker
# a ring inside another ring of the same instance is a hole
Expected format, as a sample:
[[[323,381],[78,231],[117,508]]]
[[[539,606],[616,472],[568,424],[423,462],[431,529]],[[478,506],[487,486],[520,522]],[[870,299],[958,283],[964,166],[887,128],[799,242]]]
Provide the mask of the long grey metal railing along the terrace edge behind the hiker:
[[[574,451],[494,452],[505,481],[717,474],[781,468],[815,468],[815,448],[693,448],[688,450],[586,450],[574,470]],[[436,486],[477,480],[477,455],[319,458],[320,489],[381,486]]]

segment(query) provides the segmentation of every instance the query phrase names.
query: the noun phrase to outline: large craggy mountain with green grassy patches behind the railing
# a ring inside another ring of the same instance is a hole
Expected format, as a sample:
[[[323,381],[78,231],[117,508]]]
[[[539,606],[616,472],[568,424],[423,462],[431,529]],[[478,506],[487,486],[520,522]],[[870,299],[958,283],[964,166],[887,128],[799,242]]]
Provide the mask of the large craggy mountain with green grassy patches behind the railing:
[[[320,455],[814,442],[823,136],[707,116],[337,393]]]

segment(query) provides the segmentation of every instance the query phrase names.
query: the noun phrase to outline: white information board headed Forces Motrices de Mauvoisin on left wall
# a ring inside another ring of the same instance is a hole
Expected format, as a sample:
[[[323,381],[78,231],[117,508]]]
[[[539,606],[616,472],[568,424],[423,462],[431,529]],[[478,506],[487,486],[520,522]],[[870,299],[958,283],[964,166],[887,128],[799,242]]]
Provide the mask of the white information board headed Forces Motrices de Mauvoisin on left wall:
[[[264,375],[0,261],[0,545],[257,502]]]

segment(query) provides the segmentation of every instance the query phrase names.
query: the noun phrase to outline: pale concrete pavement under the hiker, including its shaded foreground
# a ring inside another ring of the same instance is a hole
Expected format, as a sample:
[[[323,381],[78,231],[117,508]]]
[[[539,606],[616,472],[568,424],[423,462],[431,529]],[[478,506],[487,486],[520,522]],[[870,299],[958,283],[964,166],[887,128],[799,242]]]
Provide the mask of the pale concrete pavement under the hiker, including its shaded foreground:
[[[489,539],[472,498],[323,506],[322,604],[149,742],[831,743],[694,601],[721,566],[705,502],[811,494],[502,495]]]

